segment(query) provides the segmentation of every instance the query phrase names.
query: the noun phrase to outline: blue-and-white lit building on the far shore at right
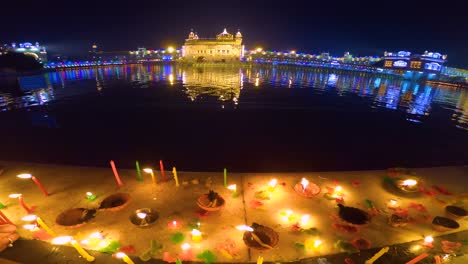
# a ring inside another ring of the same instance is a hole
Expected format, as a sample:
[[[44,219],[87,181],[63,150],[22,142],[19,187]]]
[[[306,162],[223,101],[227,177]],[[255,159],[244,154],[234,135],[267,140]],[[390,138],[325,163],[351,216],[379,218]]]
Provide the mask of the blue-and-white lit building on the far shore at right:
[[[446,62],[447,55],[438,52],[424,52],[412,55],[409,51],[385,52],[384,68],[397,71],[412,71],[438,74]]]

